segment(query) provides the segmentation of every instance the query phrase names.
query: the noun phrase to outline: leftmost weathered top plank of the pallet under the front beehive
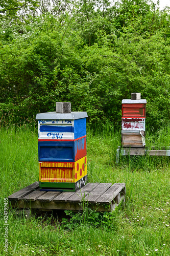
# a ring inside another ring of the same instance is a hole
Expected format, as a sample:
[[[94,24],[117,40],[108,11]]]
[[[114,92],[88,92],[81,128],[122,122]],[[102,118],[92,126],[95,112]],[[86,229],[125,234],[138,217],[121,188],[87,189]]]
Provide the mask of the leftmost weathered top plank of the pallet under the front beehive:
[[[39,182],[36,181],[33,184],[20,189],[19,191],[17,191],[16,193],[12,194],[11,196],[8,197],[8,199],[11,200],[19,200],[22,197],[27,196],[28,194],[30,194],[32,191],[34,191],[34,189],[39,188]]]

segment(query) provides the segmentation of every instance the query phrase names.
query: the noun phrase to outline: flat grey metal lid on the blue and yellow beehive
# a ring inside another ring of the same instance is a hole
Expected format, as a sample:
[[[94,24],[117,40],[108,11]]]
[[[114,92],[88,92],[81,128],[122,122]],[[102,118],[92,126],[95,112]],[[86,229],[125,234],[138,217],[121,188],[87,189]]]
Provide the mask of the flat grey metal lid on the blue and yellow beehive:
[[[56,113],[46,112],[36,115],[36,120],[76,120],[88,117],[87,112]]]

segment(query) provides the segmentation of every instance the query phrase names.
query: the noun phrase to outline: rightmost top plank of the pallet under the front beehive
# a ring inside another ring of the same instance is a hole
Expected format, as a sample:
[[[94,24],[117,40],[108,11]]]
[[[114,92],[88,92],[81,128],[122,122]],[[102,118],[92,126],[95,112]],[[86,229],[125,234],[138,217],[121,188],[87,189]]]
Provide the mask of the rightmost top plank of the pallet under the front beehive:
[[[98,200],[96,200],[96,203],[111,203],[124,187],[125,183],[114,183]]]

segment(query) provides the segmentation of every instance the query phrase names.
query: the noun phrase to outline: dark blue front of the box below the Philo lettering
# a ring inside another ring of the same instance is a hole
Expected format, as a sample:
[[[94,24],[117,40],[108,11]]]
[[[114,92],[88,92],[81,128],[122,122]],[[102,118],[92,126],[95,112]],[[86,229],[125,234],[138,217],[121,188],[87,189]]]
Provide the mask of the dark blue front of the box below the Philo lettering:
[[[38,160],[74,162],[74,141],[38,141]]]

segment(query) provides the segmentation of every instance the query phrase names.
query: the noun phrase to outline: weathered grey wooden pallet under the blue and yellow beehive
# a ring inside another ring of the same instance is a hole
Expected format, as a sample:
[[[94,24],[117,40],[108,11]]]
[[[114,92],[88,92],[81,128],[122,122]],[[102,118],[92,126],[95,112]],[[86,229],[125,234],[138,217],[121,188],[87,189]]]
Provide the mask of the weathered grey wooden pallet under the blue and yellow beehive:
[[[76,192],[40,191],[39,182],[22,188],[8,197],[12,208],[39,210],[83,210],[85,205],[96,211],[113,211],[125,202],[125,183],[87,183]]]

